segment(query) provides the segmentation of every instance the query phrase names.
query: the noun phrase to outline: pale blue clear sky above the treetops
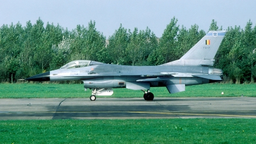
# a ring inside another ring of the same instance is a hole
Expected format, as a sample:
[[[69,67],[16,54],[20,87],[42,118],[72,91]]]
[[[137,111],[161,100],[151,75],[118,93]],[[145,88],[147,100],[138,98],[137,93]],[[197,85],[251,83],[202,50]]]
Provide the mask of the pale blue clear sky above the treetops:
[[[29,20],[35,24],[40,17],[45,25],[59,24],[72,31],[78,24],[88,27],[92,20],[107,39],[120,24],[131,31],[148,27],[161,37],[173,17],[179,28],[183,25],[189,29],[197,24],[205,32],[212,19],[223,29],[244,29],[249,20],[254,27],[255,6],[255,0],[0,0],[0,27],[18,22],[26,26]]]

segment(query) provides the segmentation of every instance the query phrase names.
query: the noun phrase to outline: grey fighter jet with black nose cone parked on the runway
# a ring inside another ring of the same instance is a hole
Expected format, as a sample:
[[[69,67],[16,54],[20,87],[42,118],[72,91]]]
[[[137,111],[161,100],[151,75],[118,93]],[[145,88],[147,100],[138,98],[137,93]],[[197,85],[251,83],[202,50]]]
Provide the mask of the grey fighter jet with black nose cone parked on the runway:
[[[142,90],[145,100],[153,100],[150,87],[165,86],[169,93],[185,91],[185,86],[221,81],[222,70],[213,68],[214,56],[226,31],[209,31],[179,60],[157,66],[112,65],[76,60],[58,70],[29,77],[28,81],[81,80],[85,90],[97,95],[112,95],[112,88]]]

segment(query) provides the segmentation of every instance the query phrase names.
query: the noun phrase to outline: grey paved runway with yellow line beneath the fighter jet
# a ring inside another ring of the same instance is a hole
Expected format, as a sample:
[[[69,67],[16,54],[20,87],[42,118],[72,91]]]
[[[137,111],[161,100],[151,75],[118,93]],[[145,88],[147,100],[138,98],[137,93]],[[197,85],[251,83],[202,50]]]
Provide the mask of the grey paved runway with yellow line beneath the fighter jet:
[[[255,97],[0,99],[0,120],[256,118]]]

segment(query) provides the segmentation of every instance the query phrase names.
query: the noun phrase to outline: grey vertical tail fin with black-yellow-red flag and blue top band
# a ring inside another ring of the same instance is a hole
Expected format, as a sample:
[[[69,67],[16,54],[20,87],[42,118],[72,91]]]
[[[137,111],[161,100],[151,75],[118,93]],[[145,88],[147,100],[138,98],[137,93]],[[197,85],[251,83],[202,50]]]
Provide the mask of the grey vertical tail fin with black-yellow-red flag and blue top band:
[[[209,31],[179,60],[163,65],[207,65],[212,66],[226,31]]]

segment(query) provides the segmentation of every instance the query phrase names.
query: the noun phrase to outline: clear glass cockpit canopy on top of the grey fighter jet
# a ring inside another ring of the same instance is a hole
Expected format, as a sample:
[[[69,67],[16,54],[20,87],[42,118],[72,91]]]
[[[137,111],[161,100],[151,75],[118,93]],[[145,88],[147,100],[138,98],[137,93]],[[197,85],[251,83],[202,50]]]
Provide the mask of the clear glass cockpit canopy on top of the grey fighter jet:
[[[97,61],[90,60],[76,60],[63,65],[60,69],[69,69],[69,68],[80,68],[80,67],[88,67],[90,65],[102,65],[104,63],[100,63]]]

